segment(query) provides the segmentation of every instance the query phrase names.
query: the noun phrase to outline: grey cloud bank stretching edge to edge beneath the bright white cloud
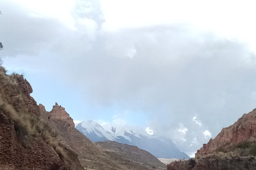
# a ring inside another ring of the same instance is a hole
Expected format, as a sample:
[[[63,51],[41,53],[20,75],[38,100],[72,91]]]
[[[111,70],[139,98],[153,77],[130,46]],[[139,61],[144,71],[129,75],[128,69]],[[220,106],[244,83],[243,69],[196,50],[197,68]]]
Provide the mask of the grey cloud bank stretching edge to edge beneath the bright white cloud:
[[[57,21],[32,19],[10,8],[13,16],[0,21],[6,24],[0,28],[6,33],[1,39],[4,55],[46,51],[58,56],[49,73],[58,70],[59,81],[81,91],[87,105],[129,111],[131,117],[145,114],[156,133],[186,139],[177,142],[186,152],[209,141],[205,130],[214,138],[255,107],[255,55],[246,45],[193,32],[189,25],[105,32],[99,2],[83,2],[84,8],[79,10],[78,4],[73,15],[98,24],[93,38],[82,25],[71,31]],[[195,116],[201,126],[193,121]],[[177,132],[180,127],[187,128],[186,134]]]

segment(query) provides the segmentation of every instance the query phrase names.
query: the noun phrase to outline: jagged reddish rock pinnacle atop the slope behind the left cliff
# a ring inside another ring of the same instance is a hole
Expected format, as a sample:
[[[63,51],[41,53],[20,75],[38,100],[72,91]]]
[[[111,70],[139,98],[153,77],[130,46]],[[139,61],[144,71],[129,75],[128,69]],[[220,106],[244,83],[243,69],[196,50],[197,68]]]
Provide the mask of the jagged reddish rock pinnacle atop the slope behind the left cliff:
[[[71,126],[71,128],[75,128],[73,118],[69,116],[64,107],[61,107],[61,105],[59,106],[57,103],[55,103],[52,111],[50,112],[50,118],[65,121]]]

